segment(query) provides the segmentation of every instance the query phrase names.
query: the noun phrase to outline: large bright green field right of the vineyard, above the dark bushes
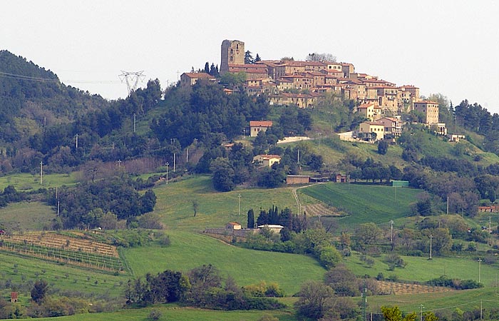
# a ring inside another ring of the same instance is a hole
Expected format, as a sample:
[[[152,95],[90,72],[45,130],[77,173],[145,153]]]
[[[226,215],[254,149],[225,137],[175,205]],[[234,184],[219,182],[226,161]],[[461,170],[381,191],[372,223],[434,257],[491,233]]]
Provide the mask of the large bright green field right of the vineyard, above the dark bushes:
[[[122,257],[133,275],[164,270],[187,272],[203,264],[217,267],[222,277],[232,276],[238,285],[249,285],[264,280],[277,282],[286,292],[298,292],[305,280],[322,280],[323,267],[317,260],[305,255],[248,250],[228,245],[207,235],[168,230],[171,245],[167,248],[150,245],[125,248]]]

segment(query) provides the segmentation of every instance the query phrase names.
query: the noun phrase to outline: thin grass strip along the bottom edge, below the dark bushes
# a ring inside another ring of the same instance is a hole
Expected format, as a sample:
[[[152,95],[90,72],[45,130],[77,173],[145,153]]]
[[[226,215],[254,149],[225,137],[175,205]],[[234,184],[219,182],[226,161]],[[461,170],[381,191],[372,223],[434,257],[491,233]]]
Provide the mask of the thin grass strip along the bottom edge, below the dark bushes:
[[[106,313],[88,313],[83,315],[71,315],[69,317],[40,318],[38,320],[63,320],[63,321],[147,321],[151,310],[158,310],[161,313],[160,321],[184,320],[184,321],[256,321],[263,315],[272,315],[280,321],[297,320],[292,312],[287,310],[277,311],[217,311],[193,309],[190,307],[177,307],[175,305],[157,305],[144,309],[120,310]]]

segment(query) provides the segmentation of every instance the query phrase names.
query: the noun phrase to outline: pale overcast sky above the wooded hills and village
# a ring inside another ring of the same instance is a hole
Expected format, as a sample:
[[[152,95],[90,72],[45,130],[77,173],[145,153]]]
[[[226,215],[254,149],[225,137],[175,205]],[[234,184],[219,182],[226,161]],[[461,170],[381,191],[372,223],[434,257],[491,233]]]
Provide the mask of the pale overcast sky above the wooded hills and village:
[[[220,65],[222,41],[237,39],[262,59],[333,54],[421,95],[499,113],[498,3],[3,0],[0,49],[115,99],[127,95],[121,71],[144,71],[143,86],[158,78],[165,88],[206,61]]]

